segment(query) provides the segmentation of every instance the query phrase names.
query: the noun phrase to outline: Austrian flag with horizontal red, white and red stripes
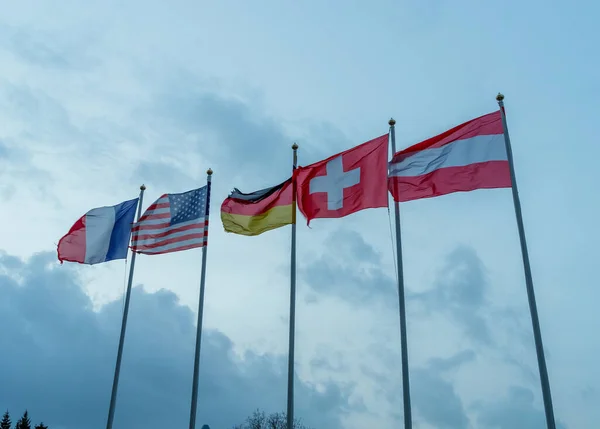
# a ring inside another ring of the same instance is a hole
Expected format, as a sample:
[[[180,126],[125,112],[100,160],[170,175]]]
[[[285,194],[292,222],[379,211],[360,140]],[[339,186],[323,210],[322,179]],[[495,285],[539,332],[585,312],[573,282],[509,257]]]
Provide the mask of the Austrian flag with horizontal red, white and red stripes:
[[[398,202],[510,187],[500,111],[397,152],[389,167],[388,188]]]

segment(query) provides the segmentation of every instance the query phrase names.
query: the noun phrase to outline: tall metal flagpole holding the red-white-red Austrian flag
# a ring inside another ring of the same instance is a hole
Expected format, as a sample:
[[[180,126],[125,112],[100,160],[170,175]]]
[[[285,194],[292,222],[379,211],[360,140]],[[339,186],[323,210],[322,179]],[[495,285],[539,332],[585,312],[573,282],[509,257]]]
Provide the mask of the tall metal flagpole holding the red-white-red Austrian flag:
[[[517,227],[519,229],[519,239],[521,241],[521,255],[523,257],[523,269],[525,271],[525,285],[527,287],[527,298],[529,300],[529,311],[531,313],[531,323],[533,325],[533,338],[535,340],[535,349],[537,352],[538,367],[540,371],[540,381],[542,384],[542,396],[544,398],[544,410],[546,412],[546,425],[548,429],[556,429],[554,422],[554,410],[552,407],[552,394],[550,393],[550,381],[548,379],[548,369],[546,368],[546,358],[544,357],[544,345],[542,343],[542,332],[540,329],[540,320],[535,302],[535,293],[533,290],[533,277],[531,275],[531,265],[529,264],[529,252],[527,251],[527,241],[525,240],[525,227],[523,225],[523,214],[521,212],[521,201],[519,199],[519,190],[517,188],[517,179],[515,175],[515,166],[513,162],[512,147],[510,136],[508,135],[508,126],[506,122],[506,112],[504,111],[504,95],[498,93],[496,96],[500,114],[502,115],[502,126],[504,127],[504,143],[508,156],[510,168],[510,181],[512,183],[513,202],[515,205],[515,215],[517,217]]]

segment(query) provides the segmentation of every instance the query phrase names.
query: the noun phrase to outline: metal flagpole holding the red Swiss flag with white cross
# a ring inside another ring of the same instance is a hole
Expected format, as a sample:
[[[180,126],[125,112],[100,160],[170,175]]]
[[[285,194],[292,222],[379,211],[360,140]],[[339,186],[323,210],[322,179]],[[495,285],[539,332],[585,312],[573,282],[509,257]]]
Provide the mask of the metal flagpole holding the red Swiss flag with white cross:
[[[392,156],[396,153],[396,121],[391,118],[390,135]],[[410,407],[410,380],[408,374],[408,340],[406,336],[406,305],[404,299],[404,271],[402,267],[402,234],[400,232],[400,204],[394,201],[396,218],[396,264],[398,267],[398,306],[400,309],[400,345],[402,352],[402,398],[404,400],[404,429],[412,428],[412,412]]]

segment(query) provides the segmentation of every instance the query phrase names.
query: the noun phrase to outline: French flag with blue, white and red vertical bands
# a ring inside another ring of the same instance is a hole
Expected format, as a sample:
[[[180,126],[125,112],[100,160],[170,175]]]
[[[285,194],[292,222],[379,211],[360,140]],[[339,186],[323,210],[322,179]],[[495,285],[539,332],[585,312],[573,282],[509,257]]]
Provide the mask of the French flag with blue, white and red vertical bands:
[[[139,198],[84,214],[58,242],[58,260],[99,264],[125,259]]]

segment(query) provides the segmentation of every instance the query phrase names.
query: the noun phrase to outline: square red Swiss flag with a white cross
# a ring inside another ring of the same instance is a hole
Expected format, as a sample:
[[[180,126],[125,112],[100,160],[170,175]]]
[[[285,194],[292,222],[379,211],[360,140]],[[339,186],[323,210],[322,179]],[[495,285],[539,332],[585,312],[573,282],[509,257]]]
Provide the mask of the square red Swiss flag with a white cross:
[[[388,134],[294,171],[298,208],[308,220],[387,207]]]

